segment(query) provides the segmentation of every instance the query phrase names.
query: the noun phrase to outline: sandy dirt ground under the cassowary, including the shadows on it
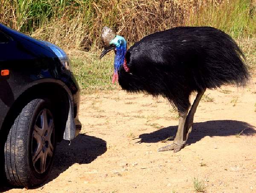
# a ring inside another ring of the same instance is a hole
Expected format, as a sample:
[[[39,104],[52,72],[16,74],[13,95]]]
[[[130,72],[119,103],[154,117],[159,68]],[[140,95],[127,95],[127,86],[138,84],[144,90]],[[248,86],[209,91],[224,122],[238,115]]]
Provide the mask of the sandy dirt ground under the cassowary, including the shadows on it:
[[[161,97],[125,91],[81,97],[82,131],[57,146],[49,181],[8,192],[256,192],[256,79],[246,88],[207,90],[188,145],[172,142],[178,117]],[[195,96],[191,97],[193,100]]]

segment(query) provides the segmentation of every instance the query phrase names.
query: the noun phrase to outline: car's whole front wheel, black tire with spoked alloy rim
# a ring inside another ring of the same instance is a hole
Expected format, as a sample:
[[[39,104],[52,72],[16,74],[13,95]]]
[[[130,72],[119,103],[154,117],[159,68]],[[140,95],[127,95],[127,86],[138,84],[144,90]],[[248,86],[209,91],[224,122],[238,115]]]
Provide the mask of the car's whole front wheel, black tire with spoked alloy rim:
[[[47,99],[34,99],[15,119],[4,146],[10,184],[32,187],[47,180],[56,144],[52,112]]]

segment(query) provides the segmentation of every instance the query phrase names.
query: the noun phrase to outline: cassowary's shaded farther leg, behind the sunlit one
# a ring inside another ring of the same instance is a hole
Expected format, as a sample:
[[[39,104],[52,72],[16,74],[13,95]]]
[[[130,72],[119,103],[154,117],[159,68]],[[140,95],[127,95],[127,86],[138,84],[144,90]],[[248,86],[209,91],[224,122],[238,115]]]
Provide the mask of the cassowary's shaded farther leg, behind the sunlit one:
[[[193,105],[190,108],[189,114],[186,117],[186,124],[185,124],[185,129],[184,129],[184,135],[183,135],[183,141],[187,141],[189,134],[192,131],[192,125],[193,125],[193,121],[194,121],[194,115],[195,115],[195,111],[198,107],[198,104],[202,98],[202,96],[204,95],[205,89],[198,92],[197,96],[195,97],[195,100],[193,102]]]

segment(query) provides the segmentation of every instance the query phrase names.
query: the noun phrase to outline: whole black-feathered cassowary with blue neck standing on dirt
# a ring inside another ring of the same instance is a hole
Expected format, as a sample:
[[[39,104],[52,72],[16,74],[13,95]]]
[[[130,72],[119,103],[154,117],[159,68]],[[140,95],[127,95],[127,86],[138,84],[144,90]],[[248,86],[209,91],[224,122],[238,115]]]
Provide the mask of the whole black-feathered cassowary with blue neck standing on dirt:
[[[177,108],[180,119],[175,139],[158,151],[177,152],[184,147],[207,88],[245,85],[249,77],[239,46],[229,35],[212,27],[160,31],[128,50],[123,37],[104,27],[102,41],[105,47],[100,58],[112,49],[115,51],[112,82],[118,80],[122,89],[129,92],[162,95]],[[198,94],[191,106],[189,96],[194,91]]]

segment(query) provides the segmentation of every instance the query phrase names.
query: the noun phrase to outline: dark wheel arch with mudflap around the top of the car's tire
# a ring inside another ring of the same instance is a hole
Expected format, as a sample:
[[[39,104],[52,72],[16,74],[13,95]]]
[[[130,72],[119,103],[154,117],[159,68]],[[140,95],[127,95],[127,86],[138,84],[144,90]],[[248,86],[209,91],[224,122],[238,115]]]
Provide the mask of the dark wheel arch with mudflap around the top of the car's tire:
[[[3,137],[9,132],[15,118],[23,107],[36,98],[48,98],[52,101],[52,110],[57,119],[56,137],[61,139],[73,139],[75,136],[75,123],[73,122],[73,96],[64,82],[56,79],[41,79],[27,85],[24,91],[17,97],[12,107],[9,109],[3,121],[1,132]],[[65,105],[64,105],[65,104]],[[2,138],[1,136],[1,138]]]

